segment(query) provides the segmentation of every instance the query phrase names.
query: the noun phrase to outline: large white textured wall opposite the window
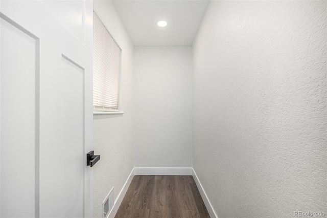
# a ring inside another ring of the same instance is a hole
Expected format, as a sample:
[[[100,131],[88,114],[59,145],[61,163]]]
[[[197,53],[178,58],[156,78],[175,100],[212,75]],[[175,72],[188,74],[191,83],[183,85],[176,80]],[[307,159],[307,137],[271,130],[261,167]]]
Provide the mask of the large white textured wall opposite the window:
[[[212,1],[193,47],[193,166],[221,217],[327,213],[326,2]]]

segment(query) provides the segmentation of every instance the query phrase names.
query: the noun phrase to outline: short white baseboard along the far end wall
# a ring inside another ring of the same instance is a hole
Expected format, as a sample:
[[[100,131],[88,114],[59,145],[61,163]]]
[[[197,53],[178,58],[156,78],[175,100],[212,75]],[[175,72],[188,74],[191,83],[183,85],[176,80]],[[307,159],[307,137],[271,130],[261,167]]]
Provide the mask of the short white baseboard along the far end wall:
[[[135,167],[135,175],[192,176],[192,167]]]

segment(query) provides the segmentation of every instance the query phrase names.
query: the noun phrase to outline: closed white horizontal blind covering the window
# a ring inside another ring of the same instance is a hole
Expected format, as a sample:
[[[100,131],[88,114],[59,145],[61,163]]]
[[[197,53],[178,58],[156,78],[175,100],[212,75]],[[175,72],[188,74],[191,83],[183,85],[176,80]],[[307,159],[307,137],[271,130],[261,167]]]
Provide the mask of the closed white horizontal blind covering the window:
[[[119,111],[122,50],[94,12],[94,111]]]

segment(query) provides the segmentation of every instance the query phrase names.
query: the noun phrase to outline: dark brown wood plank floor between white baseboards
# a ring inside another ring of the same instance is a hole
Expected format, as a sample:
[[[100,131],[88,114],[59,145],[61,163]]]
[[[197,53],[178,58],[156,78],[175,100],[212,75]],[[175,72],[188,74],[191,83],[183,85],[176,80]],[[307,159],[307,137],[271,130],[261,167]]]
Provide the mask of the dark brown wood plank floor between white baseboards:
[[[134,176],[115,218],[209,218],[192,176]]]

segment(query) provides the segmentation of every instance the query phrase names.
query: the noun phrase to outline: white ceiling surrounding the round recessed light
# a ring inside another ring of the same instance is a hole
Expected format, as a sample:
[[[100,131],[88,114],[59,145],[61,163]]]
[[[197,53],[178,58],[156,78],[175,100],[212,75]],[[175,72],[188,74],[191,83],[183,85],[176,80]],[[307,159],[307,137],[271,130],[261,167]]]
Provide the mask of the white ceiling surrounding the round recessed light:
[[[112,1],[134,46],[192,46],[209,0]],[[166,20],[166,27],[158,27]]]

